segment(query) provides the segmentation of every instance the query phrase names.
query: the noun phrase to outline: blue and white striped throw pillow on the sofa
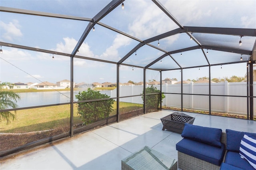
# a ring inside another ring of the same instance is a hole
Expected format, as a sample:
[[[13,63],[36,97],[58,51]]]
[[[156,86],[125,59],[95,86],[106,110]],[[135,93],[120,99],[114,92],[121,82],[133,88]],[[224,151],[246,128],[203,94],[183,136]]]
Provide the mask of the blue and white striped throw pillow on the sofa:
[[[240,156],[256,169],[256,138],[244,134],[240,144]]]

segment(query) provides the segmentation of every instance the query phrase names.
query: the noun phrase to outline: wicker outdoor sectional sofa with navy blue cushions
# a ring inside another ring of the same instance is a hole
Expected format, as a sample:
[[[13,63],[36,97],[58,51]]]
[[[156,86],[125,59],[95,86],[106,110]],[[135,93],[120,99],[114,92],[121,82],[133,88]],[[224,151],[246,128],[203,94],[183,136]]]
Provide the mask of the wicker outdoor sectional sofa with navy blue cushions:
[[[225,133],[219,128],[186,123],[181,134],[183,139],[176,144],[178,168],[182,170],[255,170],[252,165],[256,164],[256,159],[251,160],[251,165],[239,154],[244,134],[256,139],[256,133],[230,129],[226,129]],[[256,149],[256,145],[254,146],[253,149]],[[252,155],[256,157],[256,150],[253,151],[253,149]]]

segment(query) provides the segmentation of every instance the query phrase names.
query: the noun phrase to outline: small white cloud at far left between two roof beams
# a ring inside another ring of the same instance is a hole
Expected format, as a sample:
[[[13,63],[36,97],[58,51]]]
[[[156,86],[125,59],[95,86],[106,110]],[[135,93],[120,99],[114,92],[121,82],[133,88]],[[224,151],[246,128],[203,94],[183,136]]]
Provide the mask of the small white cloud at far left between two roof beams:
[[[12,22],[9,22],[8,24],[4,22],[0,22],[1,30],[4,30],[2,32],[3,38],[7,41],[13,41],[14,39],[20,38],[23,36],[21,30],[20,30],[20,24],[18,20],[12,20]]]

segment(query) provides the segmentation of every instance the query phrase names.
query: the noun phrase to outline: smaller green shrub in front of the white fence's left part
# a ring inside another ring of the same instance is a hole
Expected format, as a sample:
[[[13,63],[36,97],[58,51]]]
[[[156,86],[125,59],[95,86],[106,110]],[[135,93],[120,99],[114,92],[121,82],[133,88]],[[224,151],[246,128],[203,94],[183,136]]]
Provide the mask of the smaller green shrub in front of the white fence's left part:
[[[151,87],[146,88],[146,94],[150,93],[160,93],[161,91],[158,90],[156,87],[151,85]],[[142,94],[144,95],[144,92],[142,91]],[[144,96],[141,97],[143,102],[144,101]],[[162,99],[165,98],[165,95],[162,93]],[[158,109],[160,108],[160,104],[162,102],[161,99],[161,94],[157,95],[146,95],[146,109]]]

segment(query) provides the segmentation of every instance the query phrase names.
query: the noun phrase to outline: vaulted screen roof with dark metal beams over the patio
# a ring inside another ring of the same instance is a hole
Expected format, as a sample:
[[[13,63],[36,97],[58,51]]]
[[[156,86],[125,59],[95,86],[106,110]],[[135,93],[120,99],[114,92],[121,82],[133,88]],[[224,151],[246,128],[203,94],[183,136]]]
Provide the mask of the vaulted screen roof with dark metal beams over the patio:
[[[256,60],[255,0],[1,0],[0,5],[2,46],[161,71]],[[26,24],[21,28],[20,22]]]

